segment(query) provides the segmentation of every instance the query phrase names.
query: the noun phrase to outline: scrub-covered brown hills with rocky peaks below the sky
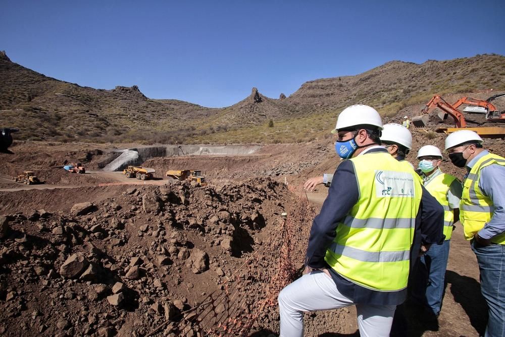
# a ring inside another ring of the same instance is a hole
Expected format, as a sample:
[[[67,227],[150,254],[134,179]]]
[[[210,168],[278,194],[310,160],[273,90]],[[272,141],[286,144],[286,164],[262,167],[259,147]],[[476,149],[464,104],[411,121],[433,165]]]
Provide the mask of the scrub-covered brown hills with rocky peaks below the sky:
[[[355,76],[308,81],[287,98],[251,95],[225,108],[146,98],[137,86],[82,87],[44,76],[0,52],[0,127],[18,139],[144,143],[278,143],[327,137],[346,106],[368,104],[384,117],[433,94],[487,97],[505,90],[505,57],[477,55],[415,64],[388,62]],[[494,92],[494,91],[493,91]],[[403,113],[402,110],[402,113]]]

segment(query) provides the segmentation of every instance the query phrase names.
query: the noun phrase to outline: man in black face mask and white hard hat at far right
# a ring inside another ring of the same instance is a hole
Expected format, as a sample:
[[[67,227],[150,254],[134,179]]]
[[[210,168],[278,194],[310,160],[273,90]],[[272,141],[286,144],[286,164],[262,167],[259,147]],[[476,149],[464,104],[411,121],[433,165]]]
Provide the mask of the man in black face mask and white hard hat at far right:
[[[482,147],[474,131],[445,138],[445,151],[466,168],[460,221],[480,270],[480,290],[489,307],[485,336],[505,335],[505,158]]]

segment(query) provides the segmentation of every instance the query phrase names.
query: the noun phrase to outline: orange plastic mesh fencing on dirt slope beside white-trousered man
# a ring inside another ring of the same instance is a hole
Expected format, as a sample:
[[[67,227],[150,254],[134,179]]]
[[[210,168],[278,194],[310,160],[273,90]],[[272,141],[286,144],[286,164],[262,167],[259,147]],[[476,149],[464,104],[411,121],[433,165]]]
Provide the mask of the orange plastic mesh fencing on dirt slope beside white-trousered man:
[[[301,188],[287,216],[279,218],[270,240],[248,256],[224,283],[224,290],[210,294],[198,306],[166,321],[147,336],[174,333],[181,336],[248,336],[279,329],[277,296],[303,267],[310,228],[316,209]]]

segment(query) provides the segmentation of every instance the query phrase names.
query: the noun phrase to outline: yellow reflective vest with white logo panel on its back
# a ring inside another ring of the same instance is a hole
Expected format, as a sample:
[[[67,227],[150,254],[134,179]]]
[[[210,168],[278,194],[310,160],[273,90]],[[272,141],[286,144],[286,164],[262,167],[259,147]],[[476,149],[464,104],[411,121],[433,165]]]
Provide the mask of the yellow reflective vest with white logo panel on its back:
[[[360,197],[336,229],[325,260],[342,277],[381,292],[407,286],[421,182],[384,152],[350,159]]]

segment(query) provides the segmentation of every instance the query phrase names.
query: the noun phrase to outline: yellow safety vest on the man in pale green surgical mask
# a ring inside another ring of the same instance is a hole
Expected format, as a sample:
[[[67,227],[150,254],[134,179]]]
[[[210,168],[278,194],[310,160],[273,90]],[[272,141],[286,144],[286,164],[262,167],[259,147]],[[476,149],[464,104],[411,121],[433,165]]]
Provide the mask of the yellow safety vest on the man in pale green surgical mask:
[[[428,190],[443,207],[443,233],[446,240],[449,240],[452,236],[452,224],[454,223],[454,213],[449,208],[447,192],[449,191],[450,184],[455,180],[456,177],[453,175],[440,173],[424,185],[426,190]]]

